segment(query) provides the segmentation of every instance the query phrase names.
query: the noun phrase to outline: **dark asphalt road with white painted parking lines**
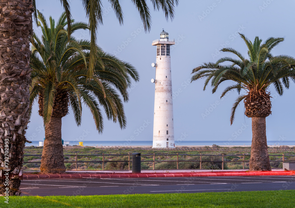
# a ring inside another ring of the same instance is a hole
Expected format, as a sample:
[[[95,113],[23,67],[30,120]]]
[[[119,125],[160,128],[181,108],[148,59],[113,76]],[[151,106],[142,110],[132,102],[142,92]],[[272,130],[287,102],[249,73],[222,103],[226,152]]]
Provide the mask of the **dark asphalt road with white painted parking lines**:
[[[31,179],[22,196],[238,192],[295,189],[295,176]]]

